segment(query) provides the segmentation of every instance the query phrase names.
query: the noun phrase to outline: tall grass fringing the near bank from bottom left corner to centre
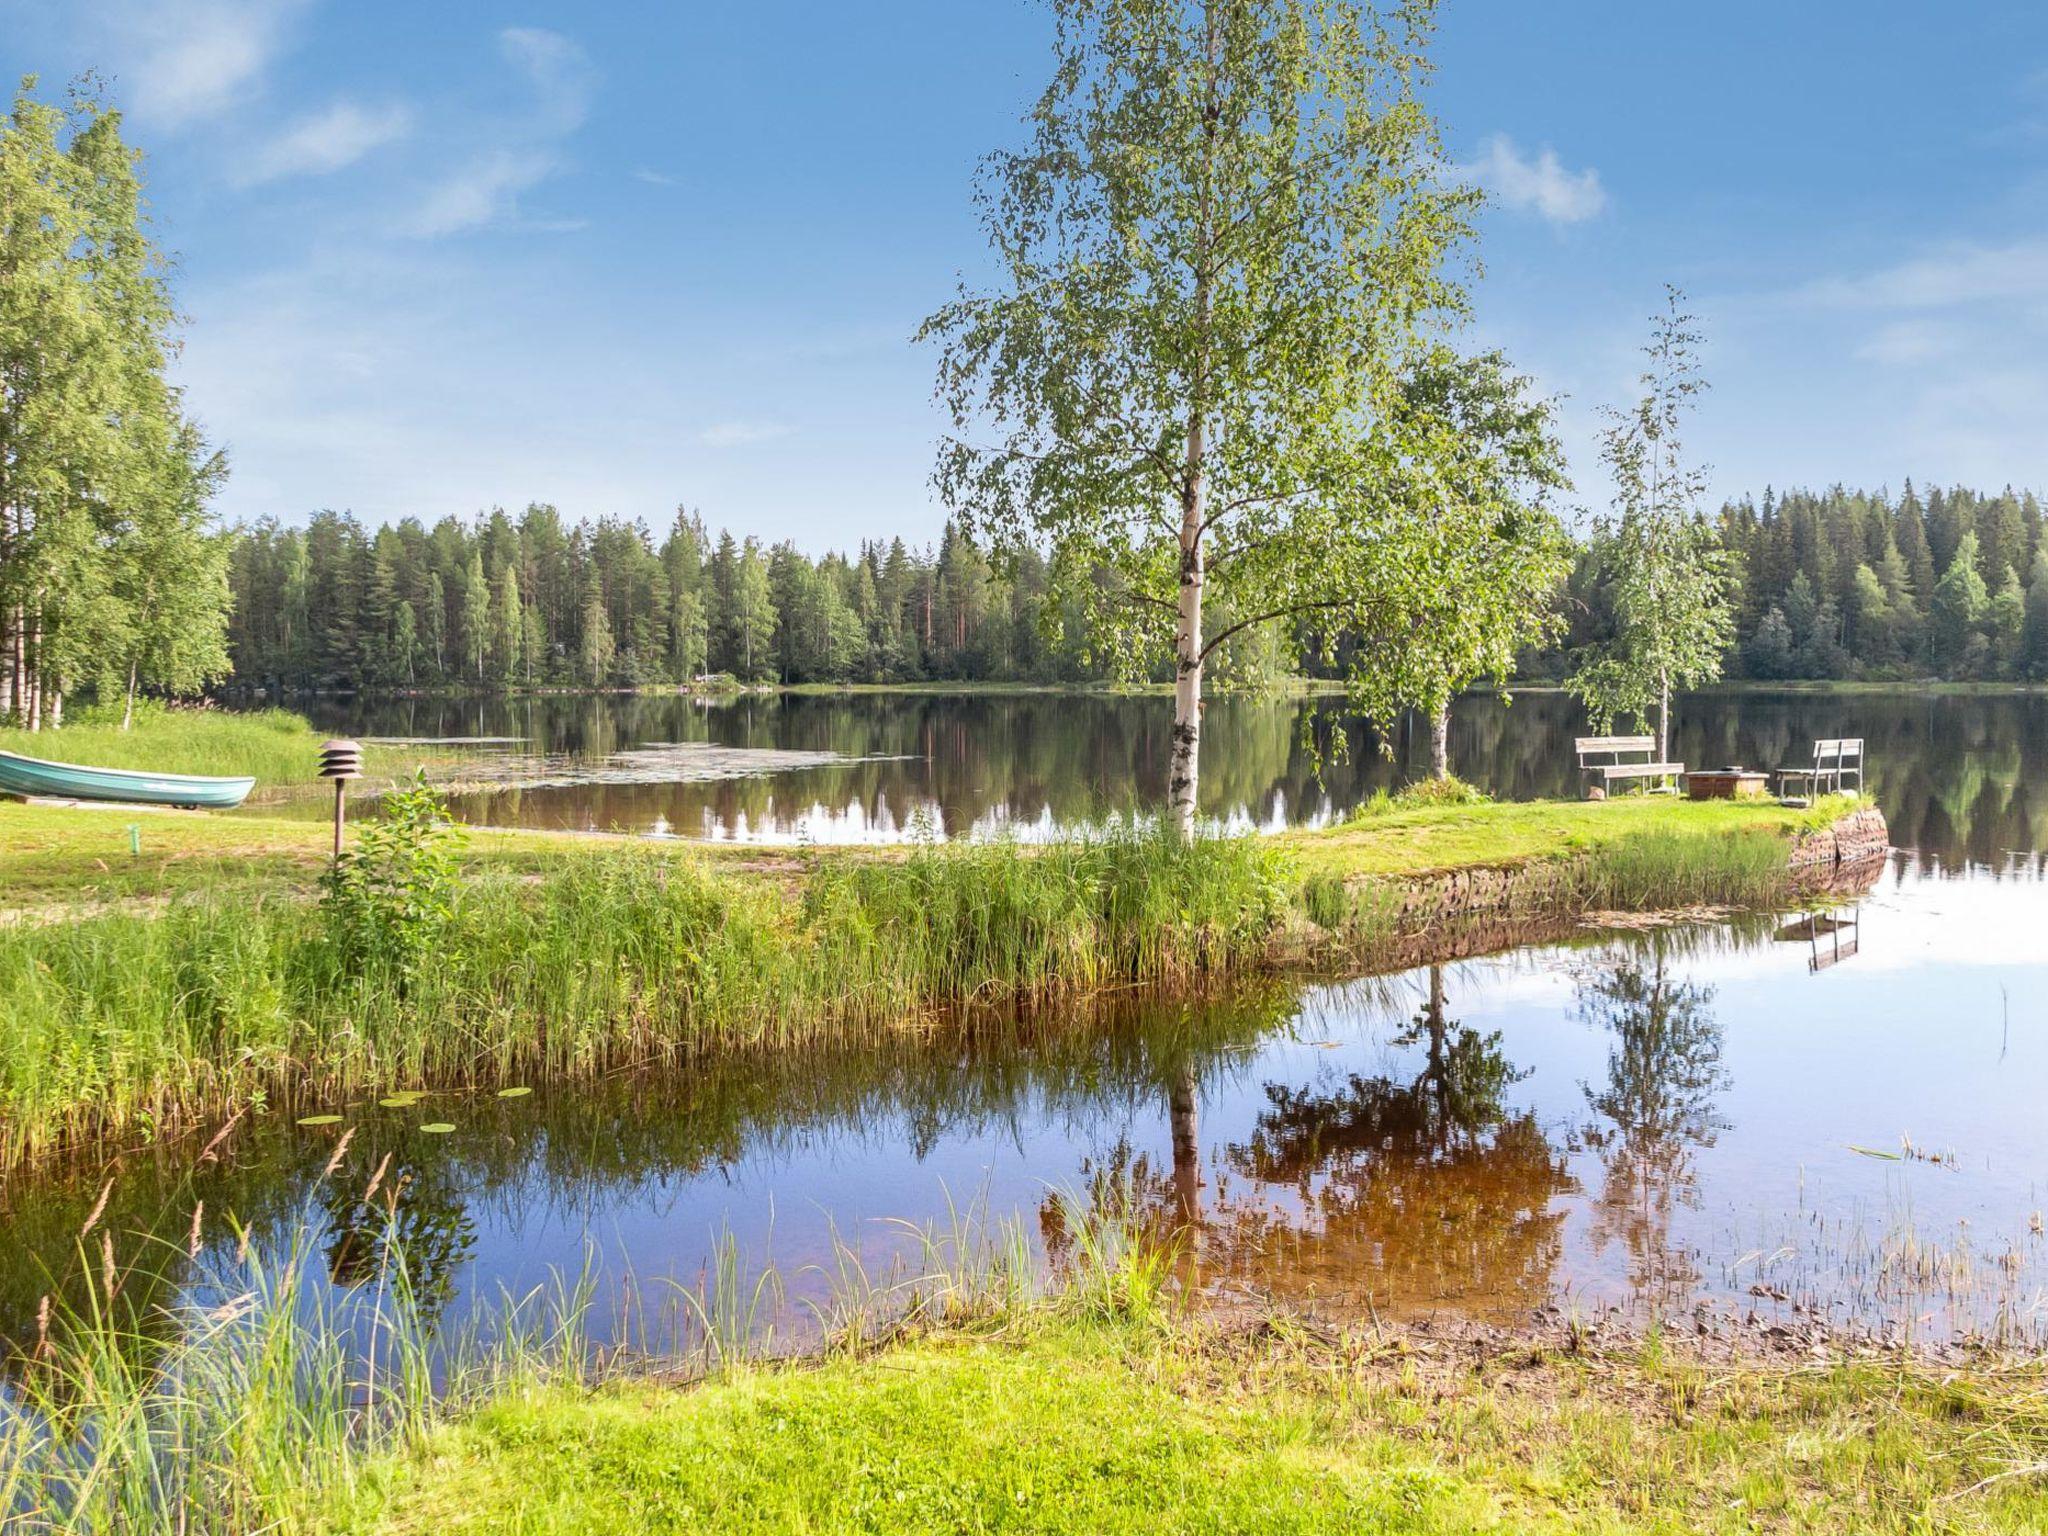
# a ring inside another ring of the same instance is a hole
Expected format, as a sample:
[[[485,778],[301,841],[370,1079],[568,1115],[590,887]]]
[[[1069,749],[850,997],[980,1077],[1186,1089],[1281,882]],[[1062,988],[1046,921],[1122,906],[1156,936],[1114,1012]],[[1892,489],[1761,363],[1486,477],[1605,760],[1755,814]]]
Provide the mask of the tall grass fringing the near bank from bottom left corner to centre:
[[[930,1327],[1157,1313],[1161,1249],[1135,1206],[1061,1196],[1061,1225],[1069,1243],[1051,1288],[1024,1227],[991,1223],[981,1204],[918,1229],[911,1262],[883,1278],[842,1247],[815,1309],[827,1327],[811,1343],[864,1354]],[[696,1380],[778,1354],[782,1278],[754,1272],[729,1237],[696,1286],[678,1288],[668,1352],[635,1360],[594,1337],[588,1268],[481,1303],[444,1333],[412,1292],[395,1237],[342,1292],[317,1262],[319,1237],[301,1227],[274,1262],[244,1239],[186,1292],[203,1300],[150,1315],[121,1305],[106,1239],[106,1278],[8,1362],[0,1528],[209,1536],[346,1524],[375,1501],[377,1466],[485,1403],[635,1366]]]

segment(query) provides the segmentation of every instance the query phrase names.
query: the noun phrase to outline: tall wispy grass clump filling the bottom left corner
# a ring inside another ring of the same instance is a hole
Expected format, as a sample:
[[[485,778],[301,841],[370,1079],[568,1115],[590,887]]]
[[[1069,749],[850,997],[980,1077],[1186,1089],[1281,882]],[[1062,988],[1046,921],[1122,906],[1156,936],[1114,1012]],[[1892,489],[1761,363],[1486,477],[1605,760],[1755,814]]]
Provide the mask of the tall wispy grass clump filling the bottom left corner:
[[[369,1458],[412,1450],[449,1413],[588,1360],[590,1288],[557,1284],[436,1337],[401,1255],[334,1292],[301,1231],[276,1262],[244,1249],[156,1313],[104,1280],[45,1317],[0,1389],[0,1526],[23,1532],[299,1528],[362,1493]],[[90,1274],[88,1266],[88,1274]]]

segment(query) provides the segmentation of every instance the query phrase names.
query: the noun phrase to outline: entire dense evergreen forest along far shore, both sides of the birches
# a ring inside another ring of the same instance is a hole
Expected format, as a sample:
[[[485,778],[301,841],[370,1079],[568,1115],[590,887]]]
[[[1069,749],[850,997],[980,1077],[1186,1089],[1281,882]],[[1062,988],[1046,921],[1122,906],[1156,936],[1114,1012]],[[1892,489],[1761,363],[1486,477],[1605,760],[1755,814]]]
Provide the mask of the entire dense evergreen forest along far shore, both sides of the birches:
[[[1765,492],[1718,520],[1741,575],[1731,676],[2048,680],[2048,545],[2032,494]],[[1083,614],[1047,612],[1040,561],[997,567],[950,524],[936,547],[889,539],[811,559],[688,512],[659,537],[539,504],[432,528],[319,512],[305,528],[242,530],[231,580],[244,686],[1167,676],[1163,655],[1094,655]],[[1524,676],[1563,676],[1606,631],[1587,559],[1563,604],[1567,633],[1528,655]],[[1300,672],[1337,670],[1343,637],[1300,633],[1235,647],[1223,682],[1280,674],[1288,639]]]

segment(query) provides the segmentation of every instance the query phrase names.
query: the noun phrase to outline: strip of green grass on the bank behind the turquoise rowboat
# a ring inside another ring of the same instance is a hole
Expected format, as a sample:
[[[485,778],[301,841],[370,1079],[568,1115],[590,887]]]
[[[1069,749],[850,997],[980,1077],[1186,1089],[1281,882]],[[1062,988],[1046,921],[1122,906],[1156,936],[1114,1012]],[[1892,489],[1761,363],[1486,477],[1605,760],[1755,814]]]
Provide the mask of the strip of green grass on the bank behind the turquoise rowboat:
[[[119,709],[84,709],[53,731],[0,729],[0,752],[94,768],[150,768],[164,774],[252,776],[258,786],[313,784],[319,778],[322,733],[285,709],[166,709],[135,707],[133,729],[121,729]],[[397,748],[371,748],[365,768],[373,774],[403,772],[410,756]]]

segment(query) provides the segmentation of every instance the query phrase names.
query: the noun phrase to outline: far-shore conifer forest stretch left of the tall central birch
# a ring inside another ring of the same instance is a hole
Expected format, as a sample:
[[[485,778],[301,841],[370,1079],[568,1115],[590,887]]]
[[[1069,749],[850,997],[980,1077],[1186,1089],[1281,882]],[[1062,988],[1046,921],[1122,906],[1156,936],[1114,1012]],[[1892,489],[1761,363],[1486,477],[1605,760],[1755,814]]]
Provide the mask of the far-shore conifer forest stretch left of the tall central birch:
[[[936,547],[874,541],[821,559],[678,512],[567,522],[553,506],[432,528],[317,512],[233,549],[242,684],[281,688],[629,688],[1094,676],[1047,637],[1042,561],[997,569],[950,524]],[[1073,625],[1079,637],[1079,618]]]

